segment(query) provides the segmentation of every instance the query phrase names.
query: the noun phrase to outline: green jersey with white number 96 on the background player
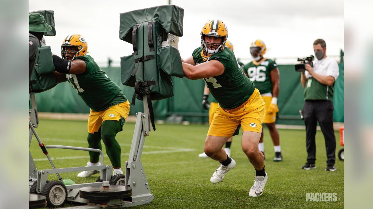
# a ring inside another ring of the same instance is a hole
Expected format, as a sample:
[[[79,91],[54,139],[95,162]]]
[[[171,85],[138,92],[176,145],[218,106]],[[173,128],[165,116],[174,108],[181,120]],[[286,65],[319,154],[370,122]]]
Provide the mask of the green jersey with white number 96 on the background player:
[[[244,71],[255,84],[260,94],[272,93],[271,71],[277,67],[275,61],[265,59],[260,63],[252,61],[244,66]]]

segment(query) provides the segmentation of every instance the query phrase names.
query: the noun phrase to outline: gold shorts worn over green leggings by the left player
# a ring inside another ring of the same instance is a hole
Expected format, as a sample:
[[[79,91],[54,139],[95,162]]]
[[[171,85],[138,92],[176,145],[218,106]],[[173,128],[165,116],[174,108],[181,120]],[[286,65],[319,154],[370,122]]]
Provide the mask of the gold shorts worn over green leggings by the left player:
[[[100,129],[105,120],[127,120],[129,114],[129,102],[120,103],[100,112],[92,111],[88,117],[88,133],[93,134]],[[124,121],[123,121],[124,123]]]

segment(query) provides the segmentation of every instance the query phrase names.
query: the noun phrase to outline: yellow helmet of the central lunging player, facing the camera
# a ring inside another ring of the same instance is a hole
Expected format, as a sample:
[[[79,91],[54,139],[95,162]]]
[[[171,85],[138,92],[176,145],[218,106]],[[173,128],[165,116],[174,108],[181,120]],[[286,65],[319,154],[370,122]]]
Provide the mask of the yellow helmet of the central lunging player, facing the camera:
[[[205,41],[206,36],[222,37],[220,43],[210,43]],[[213,19],[207,21],[201,30],[201,47],[207,54],[216,54],[223,51],[228,38],[228,28],[222,20]]]

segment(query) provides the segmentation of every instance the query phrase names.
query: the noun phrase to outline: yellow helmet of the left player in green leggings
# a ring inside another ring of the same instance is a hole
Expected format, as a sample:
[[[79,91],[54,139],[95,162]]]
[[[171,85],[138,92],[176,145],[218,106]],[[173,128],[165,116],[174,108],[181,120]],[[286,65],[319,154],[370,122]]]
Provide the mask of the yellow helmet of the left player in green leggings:
[[[67,51],[65,46],[76,46],[75,51]],[[61,45],[61,55],[62,59],[65,59],[65,54],[75,54],[73,59],[74,60],[78,56],[84,56],[88,52],[88,44],[85,41],[85,38],[79,34],[70,34],[66,36],[63,40]]]

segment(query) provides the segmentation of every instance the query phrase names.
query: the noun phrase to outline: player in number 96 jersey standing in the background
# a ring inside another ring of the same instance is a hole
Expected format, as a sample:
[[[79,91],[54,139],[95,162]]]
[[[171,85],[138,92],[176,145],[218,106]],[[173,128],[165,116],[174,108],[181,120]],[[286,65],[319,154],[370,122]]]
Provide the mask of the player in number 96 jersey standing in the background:
[[[276,129],[276,113],[279,112],[277,98],[279,95],[280,73],[275,61],[264,58],[266,44],[260,39],[251,43],[250,53],[253,61],[244,66],[244,71],[266,103],[266,118],[264,123],[269,129],[274,149],[273,161],[282,161],[279,132]],[[263,132],[260,136],[259,150],[264,154]]]

